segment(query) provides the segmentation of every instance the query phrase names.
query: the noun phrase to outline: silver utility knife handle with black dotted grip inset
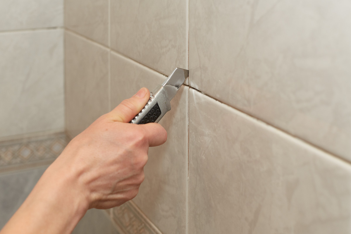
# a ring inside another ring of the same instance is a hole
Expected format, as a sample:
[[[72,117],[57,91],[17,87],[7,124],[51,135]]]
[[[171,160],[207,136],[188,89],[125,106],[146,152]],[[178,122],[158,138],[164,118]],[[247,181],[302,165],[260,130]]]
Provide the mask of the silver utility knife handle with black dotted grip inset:
[[[171,110],[171,102],[162,85],[158,85],[151,93],[150,99],[144,108],[137,114],[130,123],[145,124],[158,123],[166,112]]]

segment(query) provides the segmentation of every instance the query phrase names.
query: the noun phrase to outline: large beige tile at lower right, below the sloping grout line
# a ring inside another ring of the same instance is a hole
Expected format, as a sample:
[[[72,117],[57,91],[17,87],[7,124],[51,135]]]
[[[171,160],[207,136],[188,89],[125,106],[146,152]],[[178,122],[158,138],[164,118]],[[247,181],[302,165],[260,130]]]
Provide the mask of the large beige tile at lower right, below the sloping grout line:
[[[190,90],[188,233],[351,232],[351,166]]]

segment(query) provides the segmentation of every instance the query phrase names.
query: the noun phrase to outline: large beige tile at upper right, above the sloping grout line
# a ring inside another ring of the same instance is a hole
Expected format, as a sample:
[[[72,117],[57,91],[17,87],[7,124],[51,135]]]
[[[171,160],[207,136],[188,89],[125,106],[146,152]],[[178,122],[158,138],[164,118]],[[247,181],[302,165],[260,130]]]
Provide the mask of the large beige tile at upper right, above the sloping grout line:
[[[190,85],[351,160],[351,2],[190,1]]]

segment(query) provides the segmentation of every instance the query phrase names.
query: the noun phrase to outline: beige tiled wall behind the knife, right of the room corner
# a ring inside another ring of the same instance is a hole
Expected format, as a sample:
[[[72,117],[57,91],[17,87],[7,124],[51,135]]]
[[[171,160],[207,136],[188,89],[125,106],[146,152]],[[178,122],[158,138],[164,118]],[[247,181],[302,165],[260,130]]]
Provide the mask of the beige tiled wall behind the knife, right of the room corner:
[[[66,0],[66,129],[189,68],[133,200],[160,232],[351,233],[350,10]]]

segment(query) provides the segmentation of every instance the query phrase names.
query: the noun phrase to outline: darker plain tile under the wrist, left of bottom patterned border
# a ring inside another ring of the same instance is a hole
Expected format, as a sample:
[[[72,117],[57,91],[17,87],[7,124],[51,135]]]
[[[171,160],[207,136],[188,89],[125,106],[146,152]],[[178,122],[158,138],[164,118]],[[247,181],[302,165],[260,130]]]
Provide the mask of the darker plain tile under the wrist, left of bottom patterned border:
[[[72,234],[120,234],[105,210],[90,209],[79,221]]]

